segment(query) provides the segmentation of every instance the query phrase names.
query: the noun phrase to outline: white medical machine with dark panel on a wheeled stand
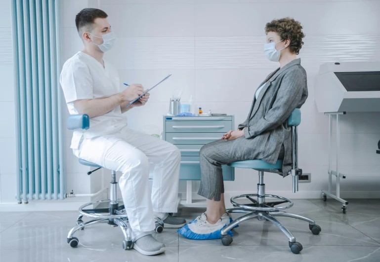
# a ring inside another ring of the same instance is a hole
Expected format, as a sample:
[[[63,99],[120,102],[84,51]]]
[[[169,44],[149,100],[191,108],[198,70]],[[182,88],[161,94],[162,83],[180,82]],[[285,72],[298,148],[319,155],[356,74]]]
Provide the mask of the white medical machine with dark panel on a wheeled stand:
[[[343,204],[347,211],[348,202],[340,198],[339,172],[340,128],[339,115],[346,112],[380,112],[380,61],[326,63],[320,66],[315,85],[315,103],[319,112],[329,115],[329,188],[322,190],[324,201],[327,195]],[[337,170],[331,168],[333,115],[337,117]],[[337,177],[336,194],[332,193],[332,176]]]

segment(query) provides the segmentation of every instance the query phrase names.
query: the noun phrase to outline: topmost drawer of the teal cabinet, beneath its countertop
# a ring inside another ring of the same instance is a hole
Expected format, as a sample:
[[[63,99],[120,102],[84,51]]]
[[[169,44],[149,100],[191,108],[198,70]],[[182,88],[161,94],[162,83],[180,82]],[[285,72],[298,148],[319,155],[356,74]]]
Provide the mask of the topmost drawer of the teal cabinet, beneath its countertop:
[[[232,129],[232,121],[166,121],[166,132],[175,133],[227,133]]]

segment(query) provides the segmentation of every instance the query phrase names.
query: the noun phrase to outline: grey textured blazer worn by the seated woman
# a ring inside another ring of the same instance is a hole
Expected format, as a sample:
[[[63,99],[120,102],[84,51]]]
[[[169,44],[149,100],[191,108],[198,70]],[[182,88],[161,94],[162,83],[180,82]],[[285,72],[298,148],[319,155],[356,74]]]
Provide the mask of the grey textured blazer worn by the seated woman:
[[[307,98],[306,71],[300,58],[269,74],[268,83],[261,89],[257,100],[253,97],[247,120],[239,125],[244,129],[245,139],[236,141],[236,151],[242,158],[262,159],[275,164],[284,145],[285,157],[281,170],[267,170],[286,177],[292,169],[292,129],[287,119]],[[239,150],[240,149],[240,150]]]

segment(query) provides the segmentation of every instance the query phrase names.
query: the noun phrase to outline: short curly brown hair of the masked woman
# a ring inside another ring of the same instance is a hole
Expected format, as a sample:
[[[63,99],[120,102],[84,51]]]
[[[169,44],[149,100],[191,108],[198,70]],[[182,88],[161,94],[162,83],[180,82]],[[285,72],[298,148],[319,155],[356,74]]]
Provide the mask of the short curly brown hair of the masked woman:
[[[278,33],[281,39],[290,39],[290,50],[296,55],[299,54],[303,45],[302,38],[305,37],[305,34],[302,32],[301,23],[294,18],[285,17],[270,21],[265,25],[265,34],[268,32]]]

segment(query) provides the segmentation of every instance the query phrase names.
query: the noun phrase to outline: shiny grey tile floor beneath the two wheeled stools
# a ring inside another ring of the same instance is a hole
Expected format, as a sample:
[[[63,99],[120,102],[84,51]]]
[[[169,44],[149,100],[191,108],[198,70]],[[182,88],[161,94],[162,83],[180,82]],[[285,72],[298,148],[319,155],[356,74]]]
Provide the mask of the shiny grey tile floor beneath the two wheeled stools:
[[[322,227],[313,235],[308,224],[291,218],[279,218],[303,245],[293,254],[286,236],[269,222],[246,221],[233,230],[234,241],[228,247],[220,240],[194,241],[179,236],[175,229],[154,233],[167,251],[146,257],[135,250],[121,248],[123,234],[118,227],[95,225],[76,236],[77,248],[66,237],[75,225],[77,212],[0,212],[0,262],[379,262],[380,199],[349,200],[347,214],[335,200],[299,199],[289,212],[301,214]],[[202,209],[185,209],[188,221]],[[233,214],[233,218],[238,217]]]

